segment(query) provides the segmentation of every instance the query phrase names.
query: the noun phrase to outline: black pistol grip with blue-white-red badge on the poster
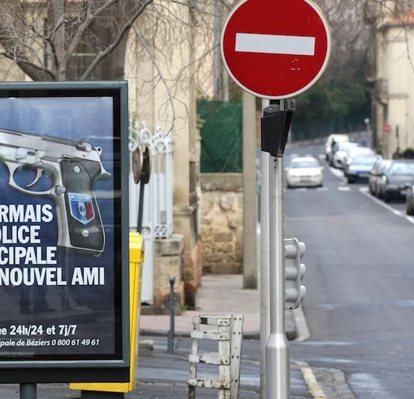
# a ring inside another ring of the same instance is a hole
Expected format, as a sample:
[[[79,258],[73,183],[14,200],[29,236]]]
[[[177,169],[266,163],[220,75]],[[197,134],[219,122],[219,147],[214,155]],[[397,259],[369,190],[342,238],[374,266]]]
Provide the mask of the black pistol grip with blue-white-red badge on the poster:
[[[94,182],[101,175],[99,162],[73,158],[61,161],[62,182],[66,187],[65,206],[71,247],[102,252],[105,232],[96,196]]]

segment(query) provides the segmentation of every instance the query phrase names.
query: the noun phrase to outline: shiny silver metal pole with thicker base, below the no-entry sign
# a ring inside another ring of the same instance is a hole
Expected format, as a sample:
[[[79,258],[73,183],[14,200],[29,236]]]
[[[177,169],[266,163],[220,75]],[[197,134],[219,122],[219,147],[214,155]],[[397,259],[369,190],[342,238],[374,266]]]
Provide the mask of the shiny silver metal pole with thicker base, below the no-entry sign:
[[[283,110],[281,100],[281,110]],[[289,399],[290,358],[285,331],[285,245],[283,219],[283,155],[269,165],[270,336],[266,345],[266,399]]]

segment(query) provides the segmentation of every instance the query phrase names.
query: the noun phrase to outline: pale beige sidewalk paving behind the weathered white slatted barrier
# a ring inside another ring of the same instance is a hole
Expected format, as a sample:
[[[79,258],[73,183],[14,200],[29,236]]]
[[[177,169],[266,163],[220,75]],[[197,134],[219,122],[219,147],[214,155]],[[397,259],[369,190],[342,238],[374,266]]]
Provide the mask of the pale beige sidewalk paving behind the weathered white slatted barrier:
[[[185,311],[175,316],[176,336],[189,336],[193,330],[192,318],[199,315],[243,314],[243,336],[260,338],[260,290],[243,289],[241,274],[208,274],[196,294],[196,311]],[[165,335],[170,328],[169,315],[140,316],[143,336]],[[286,335],[289,340],[297,336],[293,311],[286,311]]]

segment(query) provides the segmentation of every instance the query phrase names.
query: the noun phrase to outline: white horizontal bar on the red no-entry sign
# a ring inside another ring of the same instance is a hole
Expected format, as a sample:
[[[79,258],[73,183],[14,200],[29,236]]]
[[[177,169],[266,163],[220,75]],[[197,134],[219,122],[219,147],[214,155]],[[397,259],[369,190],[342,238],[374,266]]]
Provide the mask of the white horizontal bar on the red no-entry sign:
[[[314,56],[315,38],[257,33],[236,33],[236,51],[243,53],[290,54]]]

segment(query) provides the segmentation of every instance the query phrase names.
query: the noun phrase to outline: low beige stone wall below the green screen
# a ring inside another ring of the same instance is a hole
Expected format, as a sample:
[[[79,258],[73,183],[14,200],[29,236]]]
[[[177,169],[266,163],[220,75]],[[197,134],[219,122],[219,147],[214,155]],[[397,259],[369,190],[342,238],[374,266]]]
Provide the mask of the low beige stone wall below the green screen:
[[[201,174],[203,272],[243,271],[243,180],[240,173]]]

